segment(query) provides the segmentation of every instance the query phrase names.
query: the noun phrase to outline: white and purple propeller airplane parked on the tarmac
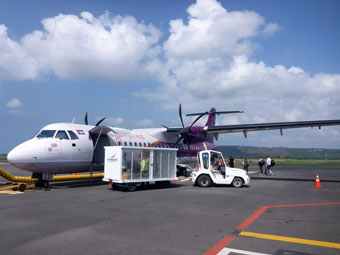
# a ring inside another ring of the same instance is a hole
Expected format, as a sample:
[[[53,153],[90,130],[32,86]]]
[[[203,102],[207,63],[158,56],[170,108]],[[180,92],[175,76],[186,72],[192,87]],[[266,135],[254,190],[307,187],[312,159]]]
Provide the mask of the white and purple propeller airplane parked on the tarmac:
[[[316,120],[296,122],[276,122],[257,124],[237,124],[216,126],[216,116],[220,114],[243,113],[242,111],[218,112],[211,108],[209,112],[187,114],[198,116],[190,126],[185,126],[181,104],[179,117],[182,127],[124,129],[100,126],[102,118],[96,125],[88,124],[87,113],[85,125],[71,123],[54,123],[43,127],[36,136],[19,144],[8,155],[8,162],[22,170],[32,172],[38,178],[37,185],[48,185],[43,174],[78,173],[102,171],[104,169],[104,146],[135,146],[178,148],[177,170],[179,175],[186,175],[192,169],[198,151],[218,147],[214,140],[222,133],[242,132],[244,137],[250,131],[280,130],[340,125],[338,120]],[[195,126],[203,116],[208,116],[204,126]]]

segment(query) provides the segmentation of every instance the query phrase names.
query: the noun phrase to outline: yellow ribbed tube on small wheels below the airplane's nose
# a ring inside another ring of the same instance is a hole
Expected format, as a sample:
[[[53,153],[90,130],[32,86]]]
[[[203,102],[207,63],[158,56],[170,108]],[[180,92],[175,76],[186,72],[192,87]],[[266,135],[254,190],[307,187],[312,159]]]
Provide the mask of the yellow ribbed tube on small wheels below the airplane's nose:
[[[79,174],[79,175],[51,175],[49,178],[44,178],[39,180],[38,178],[32,178],[29,176],[14,176],[7,172],[6,170],[0,168],[0,176],[13,182],[19,183],[18,189],[24,191],[26,189],[25,184],[36,184],[37,182],[42,182],[44,188],[49,187],[49,182],[62,182],[62,181],[78,181],[78,180],[91,180],[91,179],[102,179],[104,177],[103,173],[98,174]]]

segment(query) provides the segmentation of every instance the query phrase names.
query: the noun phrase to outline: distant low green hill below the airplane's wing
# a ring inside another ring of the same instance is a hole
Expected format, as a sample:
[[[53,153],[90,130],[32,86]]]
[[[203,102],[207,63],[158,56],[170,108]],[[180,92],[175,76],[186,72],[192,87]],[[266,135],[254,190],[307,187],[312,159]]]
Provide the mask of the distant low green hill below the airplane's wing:
[[[296,159],[340,159],[339,149],[299,149],[283,147],[251,147],[251,146],[219,146],[225,157],[232,155],[236,158],[259,158],[269,155],[274,158]]]

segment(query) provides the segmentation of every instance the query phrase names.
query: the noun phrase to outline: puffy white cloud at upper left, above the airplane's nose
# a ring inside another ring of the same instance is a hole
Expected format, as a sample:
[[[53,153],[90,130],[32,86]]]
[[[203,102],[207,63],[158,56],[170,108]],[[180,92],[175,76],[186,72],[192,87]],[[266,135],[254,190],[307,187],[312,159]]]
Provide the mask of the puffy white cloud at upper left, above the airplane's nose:
[[[20,42],[11,40],[0,25],[0,80],[35,79],[48,73],[75,80],[131,80],[144,75],[144,63],[159,51],[153,46],[160,31],[131,16],[59,14],[42,24],[42,30]]]

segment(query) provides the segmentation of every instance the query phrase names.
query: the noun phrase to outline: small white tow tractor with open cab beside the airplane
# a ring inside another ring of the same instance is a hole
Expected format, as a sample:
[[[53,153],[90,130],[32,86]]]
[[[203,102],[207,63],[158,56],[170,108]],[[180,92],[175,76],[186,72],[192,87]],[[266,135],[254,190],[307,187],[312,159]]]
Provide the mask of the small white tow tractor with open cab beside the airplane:
[[[243,169],[228,167],[219,151],[205,150],[197,153],[197,166],[191,180],[200,187],[212,184],[231,184],[235,188],[250,184],[250,177]]]

